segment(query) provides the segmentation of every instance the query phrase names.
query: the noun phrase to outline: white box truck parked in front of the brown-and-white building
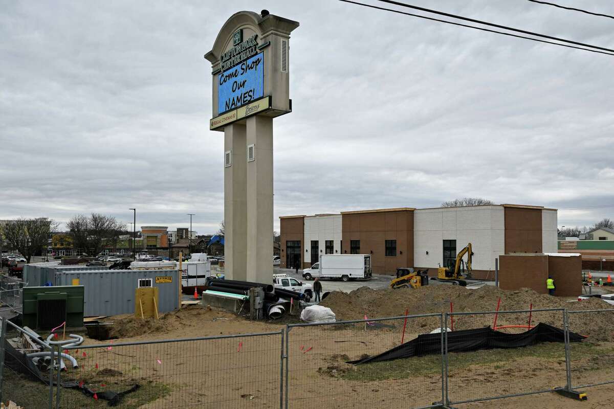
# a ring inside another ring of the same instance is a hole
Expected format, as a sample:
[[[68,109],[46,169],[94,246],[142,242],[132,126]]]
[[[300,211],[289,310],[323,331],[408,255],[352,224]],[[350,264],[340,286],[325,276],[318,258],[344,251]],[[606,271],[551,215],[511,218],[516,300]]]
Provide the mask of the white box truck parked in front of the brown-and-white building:
[[[320,261],[303,270],[305,280],[330,278],[341,281],[371,278],[370,254],[322,254]]]

